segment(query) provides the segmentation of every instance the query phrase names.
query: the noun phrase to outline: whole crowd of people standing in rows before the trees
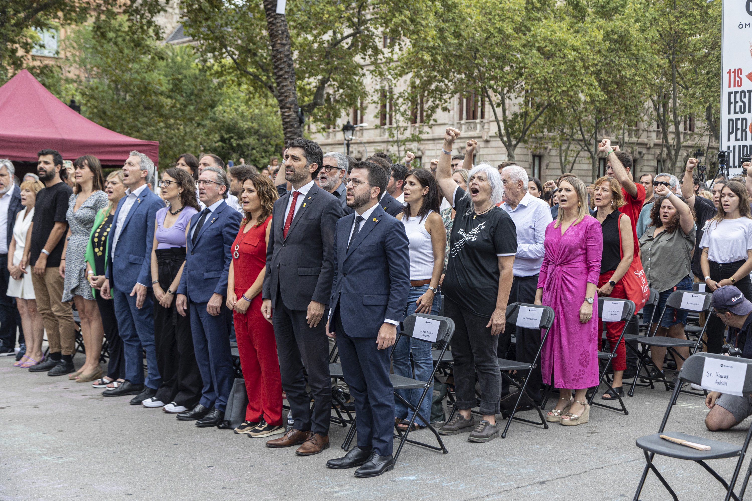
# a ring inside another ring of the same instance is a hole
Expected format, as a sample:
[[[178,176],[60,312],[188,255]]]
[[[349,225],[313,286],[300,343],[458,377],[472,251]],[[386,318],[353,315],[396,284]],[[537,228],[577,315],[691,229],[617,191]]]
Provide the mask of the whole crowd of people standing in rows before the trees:
[[[529,396],[541,403],[552,383],[560,397],[546,420],[576,426],[589,421],[587,391],[599,382],[598,297],[629,299],[630,266],[660,293],[658,311],[693,282],[710,291],[733,285],[752,299],[752,172],[747,186],[717,180],[708,200],[696,159],[682,180],[644,174],[635,183],[629,153],[602,140],[606,176],[586,186],[562,174],[541,185],[514,162],[474,165],[475,140],[453,154],[459,135],[447,128],[428,168],[411,168],[409,152],[404,164],[384,153],[359,161],[306,139],[290,140],[282,163],[260,170],[185,153],[160,176],[133,151],[105,179],[92,155],[68,169],[59,152],[43,149],[38,175],[18,186],[13,163],[0,161],[0,351],[14,352],[18,325],[25,349],[17,367],[222,427],[234,340],[247,391],[235,433],[308,456],[329,448],[336,345],[357,445],[326,464],[368,477],[393,469],[395,428],[431,424],[422,389],[399,390],[410,406],[395,402],[389,377],[431,376],[430,343],[401,337],[391,349],[414,312],[455,324],[458,412],[438,433],[488,442],[510,391],[497,358],[530,363],[541,345],[540,330],[506,323],[509,303],[553,308],[541,363],[526,375]],[[78,368],[71,304],[86,352]],[[686,339],[686,313],[669,307],[654,322],[656,336]],[[721,351],[724,322],[711,318],[708,351]],[[610,346],[623,328],[605,326]],[[659,377],[666,350],[650,355]],[[622,396],[634,365],[622,341],[613,384],[599,397]]]

